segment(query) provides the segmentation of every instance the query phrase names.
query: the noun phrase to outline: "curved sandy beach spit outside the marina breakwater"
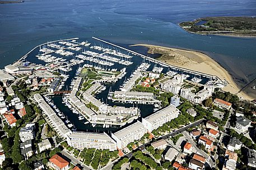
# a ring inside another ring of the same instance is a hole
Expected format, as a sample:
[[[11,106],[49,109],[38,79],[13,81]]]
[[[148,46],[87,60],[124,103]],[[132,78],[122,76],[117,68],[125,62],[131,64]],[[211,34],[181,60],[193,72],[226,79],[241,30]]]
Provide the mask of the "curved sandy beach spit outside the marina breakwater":
[[[229,91],[232,94],[236,94],[239,91],[238,86],[232,80],[229,72],[227,72],[216,61],[211,59],[211,57],[202,54],[201,52],[146,44],[138,44],[133,46],[145,46],[148,48],[149,54],[161,54],[161,57],[157,58],[157,60],[165,62],[166,64],[203,72],[205,74],[216,75],[221,80],[226,80],[229,82],[229,84],[222,89],[224,91]],[[238,96],[246,100],[253,100],[252,97],[248,96],[243,91],[239,93]]]

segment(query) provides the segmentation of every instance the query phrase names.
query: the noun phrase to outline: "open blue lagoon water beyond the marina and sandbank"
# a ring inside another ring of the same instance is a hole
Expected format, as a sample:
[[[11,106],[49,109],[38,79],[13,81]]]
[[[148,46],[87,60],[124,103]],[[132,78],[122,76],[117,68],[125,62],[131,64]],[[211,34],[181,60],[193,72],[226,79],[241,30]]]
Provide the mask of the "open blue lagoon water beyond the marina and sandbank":
[[[194,35],[178,26],[207,16],[256,16],[256,2],[35,0],[0,4],[0,67],[46,41],[95,36],[123,46],[149,43],[202,51],[224,66],[239,86],[255,79],[256,38]],[[135,49],[145,53],[145,48]],[[256,97],[255,90],[247,92]]]

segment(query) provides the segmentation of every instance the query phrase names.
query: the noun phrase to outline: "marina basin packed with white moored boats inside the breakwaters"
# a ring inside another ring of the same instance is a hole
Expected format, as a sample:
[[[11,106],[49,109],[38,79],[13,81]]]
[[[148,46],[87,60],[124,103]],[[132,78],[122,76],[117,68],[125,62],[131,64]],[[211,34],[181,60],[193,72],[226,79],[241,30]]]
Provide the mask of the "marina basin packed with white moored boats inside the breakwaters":
[[[61,119],[67,119],[68,127],[92,132],[106,127],[109,127],[109,130],[117,130],[120,125],[124,126],[127,122],[131,123],[134,119],[141,119],[140,117],[143,118],[161,109],[161,102],[156,100],[153,94],[133,92],[138,84],[148,86],[147,81],[138,81],[142,77],[149,76],[152,78],[151,81],[155,81],[153,79],[160,79],[160,75],[165,74],[173,77],[180,74],[183,75],[184,80],[196,84],[225,86],[225,81],[218,79],[216,76],[169,66],[126,48],[103,40],[99,41],[94,37],[91,42],[79,42],[78,38],[74,38],[44,43],[30,51],[26,58],[19,62],[21,64],[26,61],[43,66],[44,69],[49,71],[60,72],[60,79],[56,87],[49,91],[71,90],[71,93],[72,90],[80,91],[81,104],[86,107],[86,105],[92,103],[93,107],[89,109],[91,110],[89,111],[90,115],[89,113],[80,113],[80,109],[76,109],[75,103],[69,102],[69,93],[64,93],[61,98],[52,94],[45,96],[47,102],[49,100],[48,96],[51,96],[48,103],[54,107],[53,109],[58,106],[58,110],[55,109],[55,111]],[[84,74],[89,76],[89,79],[85,79]],[[85,80],[80,80],[79,77],[83,77]],[[77,86],[78,79],[82,82]],[[85,91],[81,91],[85,82],[89,85],[87,88],[85,86]],[[99,88],[96,88],[96,84],[100,85]],[[96,89],[87,92],[92,87]],[[118,119],[114,117],[106,118],[102,115],[106,109],[101,108],[108,108],[109,111],[113,112],[112,114],[115,114],[113,110],[115,107],[118,109],[119,107],[120,109],[138,108],[139,114],[136,113],[137,116],[132,116],[132,119],[125,119],[126,115],[123,114],[119,115]],[[96,108],[96,110],[93,108]],[[75,119],[71,113],[75,113],[77,118]],[[92,116],[91,119],[89,119],[90,116]],[[108,122],[109,120],[112,123]]]

